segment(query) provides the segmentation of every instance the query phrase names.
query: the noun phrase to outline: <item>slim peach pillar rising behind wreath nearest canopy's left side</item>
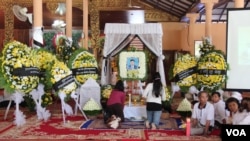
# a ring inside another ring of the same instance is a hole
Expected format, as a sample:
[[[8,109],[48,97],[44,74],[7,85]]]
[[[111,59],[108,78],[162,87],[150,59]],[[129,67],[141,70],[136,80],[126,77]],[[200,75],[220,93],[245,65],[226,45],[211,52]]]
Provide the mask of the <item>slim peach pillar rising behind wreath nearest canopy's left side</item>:
[[[88,0],[83,0],[83,33],[84,33],[84,45],[85,49],[88,49]]]

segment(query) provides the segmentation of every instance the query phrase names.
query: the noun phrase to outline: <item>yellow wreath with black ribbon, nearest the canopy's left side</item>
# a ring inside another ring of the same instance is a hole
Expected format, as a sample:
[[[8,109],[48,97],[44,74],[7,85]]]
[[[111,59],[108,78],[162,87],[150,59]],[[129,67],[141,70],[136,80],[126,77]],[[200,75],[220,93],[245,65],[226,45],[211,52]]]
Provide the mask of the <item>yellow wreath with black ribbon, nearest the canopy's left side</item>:
[[[98,79],[98,65],[95,56],[84,49],[78,49],[73,53],[68,66],[79,84],[84,84],[88,78]]]

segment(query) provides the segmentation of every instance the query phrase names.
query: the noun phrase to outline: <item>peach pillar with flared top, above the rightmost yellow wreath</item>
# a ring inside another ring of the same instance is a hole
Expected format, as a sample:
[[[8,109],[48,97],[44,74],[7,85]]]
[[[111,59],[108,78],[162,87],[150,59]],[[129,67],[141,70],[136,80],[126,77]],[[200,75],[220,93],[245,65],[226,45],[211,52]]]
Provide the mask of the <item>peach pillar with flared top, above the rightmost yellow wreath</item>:
[[[205,4],[206,9],[206,23],[205,23],[205,36],[211,38],[211,26],[212,26],[212,11],[214,3],[217,3],[218,0],[201,0],[201,3]]]

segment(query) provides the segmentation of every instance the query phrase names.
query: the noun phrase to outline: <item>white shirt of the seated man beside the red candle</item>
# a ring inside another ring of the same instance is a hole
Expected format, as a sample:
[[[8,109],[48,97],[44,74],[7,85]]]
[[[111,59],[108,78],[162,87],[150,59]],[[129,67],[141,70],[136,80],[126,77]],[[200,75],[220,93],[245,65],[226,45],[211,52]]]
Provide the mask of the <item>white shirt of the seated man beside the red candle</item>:
[[[199,108],[200,102],[194,104],[192,112],[192,118],[197,119],[198,122],[205,126],[206,121],[210,120],[210,126],[214,126],[214,106],[210,102],[206,103],[206,106],[202,109]]]

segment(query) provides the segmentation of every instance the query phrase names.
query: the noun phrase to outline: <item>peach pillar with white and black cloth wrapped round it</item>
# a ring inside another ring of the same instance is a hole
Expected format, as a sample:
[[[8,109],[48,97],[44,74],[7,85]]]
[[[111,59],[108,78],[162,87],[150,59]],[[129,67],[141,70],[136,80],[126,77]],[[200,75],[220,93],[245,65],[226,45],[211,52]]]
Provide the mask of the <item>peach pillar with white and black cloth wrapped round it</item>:
[[[41,48],[43,43],[43,0],[33,0],[33,47]]]

